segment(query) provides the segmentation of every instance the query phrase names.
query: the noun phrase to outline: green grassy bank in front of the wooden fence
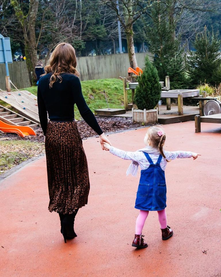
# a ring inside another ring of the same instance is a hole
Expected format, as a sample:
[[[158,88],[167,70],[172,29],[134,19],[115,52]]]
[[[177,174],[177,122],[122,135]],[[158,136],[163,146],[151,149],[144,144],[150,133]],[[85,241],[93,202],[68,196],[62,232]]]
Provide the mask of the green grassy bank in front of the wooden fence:
[[[81,87],[83,96],[92,112],[99,108],[107,108],[103,91],[106,93],[110,108],[123,107],[123,82],[120,79],[81,81]],[[37,87],[28,87],[24,89],[37,95]],[[128,102],[130,102],[132,100],[131,90],[128,90],[127,93]],[[75,118],[81,118],[77,107],[75,107]]]

